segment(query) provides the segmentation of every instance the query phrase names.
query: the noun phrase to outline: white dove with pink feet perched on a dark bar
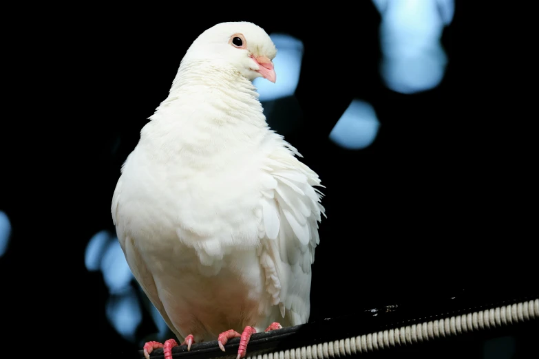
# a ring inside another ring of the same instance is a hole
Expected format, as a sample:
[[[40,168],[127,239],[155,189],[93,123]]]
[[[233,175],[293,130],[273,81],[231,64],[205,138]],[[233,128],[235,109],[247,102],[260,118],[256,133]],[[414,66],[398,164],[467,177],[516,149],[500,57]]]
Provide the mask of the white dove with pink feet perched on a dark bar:
[[[275,83],[276,54],[253,23],[198,36],[114,191],[129,268],[188,350],[240,336],[243,358],[256,331],[309,317],[324,207],[318,175],[268,128],[252,83]],[[145,356],[162,347],[169,359],[176,345],[147,342]]]

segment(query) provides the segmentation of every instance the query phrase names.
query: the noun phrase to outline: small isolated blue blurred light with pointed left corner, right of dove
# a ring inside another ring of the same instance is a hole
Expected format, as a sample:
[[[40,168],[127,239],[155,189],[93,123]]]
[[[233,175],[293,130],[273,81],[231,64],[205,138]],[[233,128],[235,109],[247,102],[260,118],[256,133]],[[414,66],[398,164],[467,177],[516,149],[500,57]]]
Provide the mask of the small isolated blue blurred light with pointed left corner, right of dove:
[[[353,100],[331,130],[329,138],[345,149],[365,149],[376,138],[379,126],[372,106],[362,100]]]

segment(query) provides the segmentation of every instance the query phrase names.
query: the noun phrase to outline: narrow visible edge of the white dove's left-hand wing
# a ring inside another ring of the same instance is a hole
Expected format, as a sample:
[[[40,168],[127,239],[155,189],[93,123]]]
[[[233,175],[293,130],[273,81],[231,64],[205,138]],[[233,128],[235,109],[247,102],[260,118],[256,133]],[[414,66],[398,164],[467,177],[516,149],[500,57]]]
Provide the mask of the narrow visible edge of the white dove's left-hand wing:
[[[178,333],[176,328],[172,325],[167,312],[165,312],[165,307],[163,307],[161,300],[158,296],[156,283],[154,281],[154,276],[149,272],[147,265],[140,256],[136,246],[133,246],[133,241],[129,236],[124,235],[123,227],[118,224],[118,201],[120,200],[120,195],[122,191],[122,179],[118,180],[116,184],[116,189],[114,190],[114,195],[112,196],[112,221],[116,226],[116,235],[118,236],[118,241],[120,241],[120,246],[122,246],[123,252],[125,254],[125,260],[131,269],[131,273],[135,277],[142,290],[146,293],[149,300],[156,307],[158,312],[161,314],[162,318],[165,320],[165,323],[173,331],[174,334],[178,337],[179,340],[184,340],[182,336]]]

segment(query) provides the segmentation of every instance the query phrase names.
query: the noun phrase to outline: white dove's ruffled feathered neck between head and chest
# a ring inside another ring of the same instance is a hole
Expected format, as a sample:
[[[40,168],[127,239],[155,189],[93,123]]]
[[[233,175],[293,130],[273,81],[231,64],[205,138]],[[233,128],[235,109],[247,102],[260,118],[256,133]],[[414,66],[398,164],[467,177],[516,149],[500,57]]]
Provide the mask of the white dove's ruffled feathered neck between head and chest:
[[[253,151],[268,124],[251,81],[212,64],[184,64],[152,122],[184,155]],[[159,124],[158,124],[159,123]]]

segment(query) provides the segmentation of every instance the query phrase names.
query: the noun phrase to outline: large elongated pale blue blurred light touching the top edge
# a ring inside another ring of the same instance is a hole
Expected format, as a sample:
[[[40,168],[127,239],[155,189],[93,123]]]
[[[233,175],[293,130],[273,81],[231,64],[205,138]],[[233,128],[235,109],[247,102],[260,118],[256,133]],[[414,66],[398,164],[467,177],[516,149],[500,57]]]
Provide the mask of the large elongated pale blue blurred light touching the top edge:
[[[380,72],[385,85],[402,94],[439,85],[447,65],[440,39],[454,16],[454,0],[372,1],[382,16]]]

